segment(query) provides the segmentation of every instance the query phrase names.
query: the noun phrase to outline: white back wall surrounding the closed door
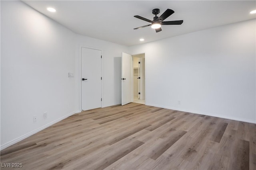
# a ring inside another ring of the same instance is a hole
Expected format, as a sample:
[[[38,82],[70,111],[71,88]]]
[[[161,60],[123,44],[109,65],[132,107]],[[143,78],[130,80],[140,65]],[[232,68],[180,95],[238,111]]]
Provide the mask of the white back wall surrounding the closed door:
[[[82,35],[76,36],[76,108],[81,111],[80,47],[102,51],[102,107],[121,104],[122,52],[128,47]]]

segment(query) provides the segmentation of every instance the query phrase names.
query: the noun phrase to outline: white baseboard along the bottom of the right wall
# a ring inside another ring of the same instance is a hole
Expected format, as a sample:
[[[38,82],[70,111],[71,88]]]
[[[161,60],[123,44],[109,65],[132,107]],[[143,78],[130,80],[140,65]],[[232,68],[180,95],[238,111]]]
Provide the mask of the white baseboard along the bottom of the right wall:
[[[161,105],[155,105],[155,104],[146,104],[146,105],[154,106],[154,107],[161,107],[161,108],[165,108],[165,109],[172,109],[172,110],[177,110],[177,111],[184,111],[184,112],[188,112],[188,113],[195,113],[195,114],[200,114],[200,115],[220,117],[220,118],[236,120],[236,121],[243,121],[243,122],[248,122],[248,123],[255,123],[256,124],[256,120],[253,121],[253,120],[250,120],[250,119],[239,119],[239,118],[236,118],[236,117],[223,116],[223,115],[218,115],[218,114],[214,114],[214,113],[206,113],[206,112],[202,112],[202,111],[192,111],[192,110],[187,110],[187,109],[180,109],[180,108],[176,108],[176,107],[168,107],[168,106],[161,106]]]

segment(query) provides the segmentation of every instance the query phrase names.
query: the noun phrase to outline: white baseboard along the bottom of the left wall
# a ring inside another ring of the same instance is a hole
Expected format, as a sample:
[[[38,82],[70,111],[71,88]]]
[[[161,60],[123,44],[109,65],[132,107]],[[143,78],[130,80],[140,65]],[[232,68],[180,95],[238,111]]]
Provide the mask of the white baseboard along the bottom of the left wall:
[[[22,141],[23,139],[26,139],[27,137],[30,137],[31,135],[34,135],[35,133],[38,133],[39,131],[42,131],[43,129],[46,129],[47,127],[55,124],[55,123],[58,123],[59,121],[62,121],[63,119],[66,119],[67,117],[75,114],[75,113],[80,113],[80,111],[72,111],[71,113],[68,113],[67,115],[63,116],[63,117],[60,117],[59,119],[56,119],[55,121],[52,121],[50,123],[47,123],[46,125],[42,126],[42,127],[39,127],[25,135],[22,135],[8,143],[5,143],[4,145],[1,145],[0,146],[0,150],[3,150],[7,147],[10,147],[11,145],[15,144],[15,143],[18,143],[19,141]]]

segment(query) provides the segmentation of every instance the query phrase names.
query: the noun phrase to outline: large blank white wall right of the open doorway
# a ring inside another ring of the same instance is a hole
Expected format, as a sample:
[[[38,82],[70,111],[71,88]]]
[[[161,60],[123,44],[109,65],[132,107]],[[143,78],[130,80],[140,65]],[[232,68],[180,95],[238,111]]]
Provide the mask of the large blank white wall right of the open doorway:
[[[256,123],[255,30],[248,20],[130,47],[146,53],[146,104]]]

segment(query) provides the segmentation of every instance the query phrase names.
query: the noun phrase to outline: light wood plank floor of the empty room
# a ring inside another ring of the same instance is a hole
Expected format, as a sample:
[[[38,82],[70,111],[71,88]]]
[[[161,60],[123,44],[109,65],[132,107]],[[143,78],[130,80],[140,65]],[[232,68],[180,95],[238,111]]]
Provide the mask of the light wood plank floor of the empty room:
[[[0,153],[2,166],[26,170],[256,170],[256,124],[131,103],[75,114]]]

